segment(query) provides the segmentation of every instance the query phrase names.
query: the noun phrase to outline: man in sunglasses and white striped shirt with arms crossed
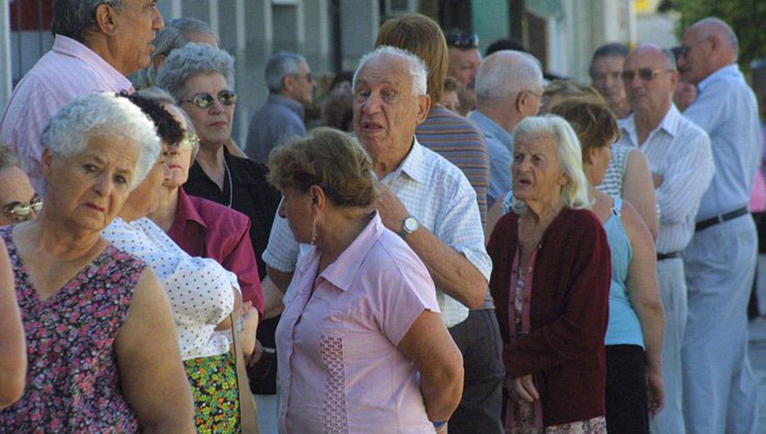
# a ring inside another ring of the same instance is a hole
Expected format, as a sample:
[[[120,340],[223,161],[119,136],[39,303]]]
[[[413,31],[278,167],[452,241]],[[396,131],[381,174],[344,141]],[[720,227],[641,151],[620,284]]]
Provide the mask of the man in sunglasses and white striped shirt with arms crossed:
[[[638,47],[625,60],[622,79],[633,114],[620,122],[620,141],[647,155],[660,206],[656,250],[665,307],[662,374],[666,405],[652,419],[651,428],[653,432],[686,432],[681,362],[686,282],[681,253],[694,235],[699,202],[715,170],[710,139],[673,105],[679,73],[670,51],[656,45]]]

